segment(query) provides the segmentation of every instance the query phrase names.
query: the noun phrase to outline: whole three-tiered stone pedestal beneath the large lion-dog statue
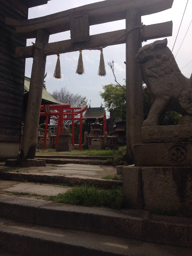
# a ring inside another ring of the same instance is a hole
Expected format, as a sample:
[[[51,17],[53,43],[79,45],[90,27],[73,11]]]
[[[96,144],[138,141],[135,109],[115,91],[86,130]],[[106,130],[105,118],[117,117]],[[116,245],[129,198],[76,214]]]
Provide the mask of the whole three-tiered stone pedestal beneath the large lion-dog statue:
[[[134,166],[122,168],[128,208],[192,217],[192,126],[142,127]]]

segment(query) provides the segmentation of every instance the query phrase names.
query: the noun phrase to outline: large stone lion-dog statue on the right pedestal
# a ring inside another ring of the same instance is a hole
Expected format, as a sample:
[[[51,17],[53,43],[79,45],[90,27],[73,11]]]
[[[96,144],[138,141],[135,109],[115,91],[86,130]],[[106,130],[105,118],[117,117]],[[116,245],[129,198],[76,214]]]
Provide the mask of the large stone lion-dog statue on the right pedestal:
[[[136,54],[142,79],[155,98],[143,125],[158,125],[169,109],[192,115],[192,75],[190,79],[182,75],[166,45],[166,38],[157,40],[144,45]]]

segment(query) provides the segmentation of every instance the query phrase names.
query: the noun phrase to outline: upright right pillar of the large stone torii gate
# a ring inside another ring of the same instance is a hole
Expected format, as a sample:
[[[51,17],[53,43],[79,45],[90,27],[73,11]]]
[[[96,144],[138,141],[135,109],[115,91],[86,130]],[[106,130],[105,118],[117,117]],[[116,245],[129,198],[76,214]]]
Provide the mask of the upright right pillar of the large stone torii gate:
[[[141,16],[136,9],[126,12],[126,30],[141,24]],[[143,122],[142,78],[135,61],[141,47],[139,28],[126,36],[126,148],[127,163],[133,163],[133,144],[141,142]]]

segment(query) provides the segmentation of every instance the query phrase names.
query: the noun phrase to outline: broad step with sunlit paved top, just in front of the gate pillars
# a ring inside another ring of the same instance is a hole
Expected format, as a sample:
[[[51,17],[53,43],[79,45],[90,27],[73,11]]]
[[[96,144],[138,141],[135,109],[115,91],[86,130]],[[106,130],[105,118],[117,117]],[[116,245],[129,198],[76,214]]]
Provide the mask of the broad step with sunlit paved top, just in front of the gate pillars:
[[[114,166],[91,164],[47,164],[39,167],[1,166],[0,178],[3,180],[29,181],[49,184],[66,183],[80,185],[88,183],[101,188],[122,185],[122,180],[106,180],[103,176],[116,174]]]

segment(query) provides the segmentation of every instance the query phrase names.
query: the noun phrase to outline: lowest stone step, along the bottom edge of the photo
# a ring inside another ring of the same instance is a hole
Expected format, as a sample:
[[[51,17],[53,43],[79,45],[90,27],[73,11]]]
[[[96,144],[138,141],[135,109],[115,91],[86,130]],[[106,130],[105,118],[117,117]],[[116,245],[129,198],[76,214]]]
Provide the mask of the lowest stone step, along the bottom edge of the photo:
[[[0,244],[27,256],[191,256],[191,249],[0,219]]]

